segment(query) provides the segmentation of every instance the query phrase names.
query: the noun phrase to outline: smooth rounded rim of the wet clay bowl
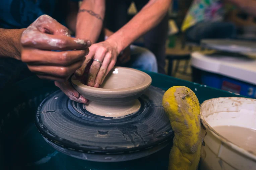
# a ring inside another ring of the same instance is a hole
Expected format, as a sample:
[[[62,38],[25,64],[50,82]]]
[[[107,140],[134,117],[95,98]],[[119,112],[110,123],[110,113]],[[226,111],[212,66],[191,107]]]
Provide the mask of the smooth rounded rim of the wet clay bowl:
[[[130,92],[138,92],[148,88],[152,83],[151,77],[147,73],[142,72],[140,70],[127,68],[127,67],[114,67],[113,69],[125,69],[125,70],[135,71],[137,73],[142,74],[145,77],[145,81],[136,86],[120,88],[120,89],[103,89],[103,88],[97,88],[97,87],[90,87],[76,80],[74,75],[71,77],[71,82],[73,86],[76,85],[82,88],[83,90],[87,90],[89,93],[101,92],[102,94],[120,94],[120,93],[125,94]]]

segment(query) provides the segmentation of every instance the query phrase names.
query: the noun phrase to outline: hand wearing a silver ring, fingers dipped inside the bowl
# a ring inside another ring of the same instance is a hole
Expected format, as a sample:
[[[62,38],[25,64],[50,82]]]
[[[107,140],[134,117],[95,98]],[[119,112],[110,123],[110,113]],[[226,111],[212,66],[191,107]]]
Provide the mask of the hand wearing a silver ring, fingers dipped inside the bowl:
[[[91,87],[99,87],[116,64],[118,55],[117,44],[105,40],[91,45],[89,50],[90,53],[86,56],[82,67],[75,74],[77,77],[82,76],[88,63],[93,59],[98,60],[92,62],[86,84]]]

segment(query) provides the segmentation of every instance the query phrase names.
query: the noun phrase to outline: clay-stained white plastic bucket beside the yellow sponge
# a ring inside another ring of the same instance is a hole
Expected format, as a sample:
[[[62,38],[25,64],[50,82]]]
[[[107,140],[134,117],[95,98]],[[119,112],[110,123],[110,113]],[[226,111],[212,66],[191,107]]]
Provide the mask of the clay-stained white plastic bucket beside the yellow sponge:
[[[201,150],[201,170],[256,170],[256,153],[238,147],[212,128],[230,125],[256,129],[256,99],[206,100],[201,105],[201,122],[205,142]]]

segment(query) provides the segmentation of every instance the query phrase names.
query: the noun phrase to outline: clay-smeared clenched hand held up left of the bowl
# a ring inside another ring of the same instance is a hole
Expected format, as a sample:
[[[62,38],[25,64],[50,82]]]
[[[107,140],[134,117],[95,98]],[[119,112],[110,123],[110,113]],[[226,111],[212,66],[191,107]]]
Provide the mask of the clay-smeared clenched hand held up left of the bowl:
[[[81,67],[91,45],[88,39],[70,37],[69,30],[48,15],[34,21],[20,42],[21,61],[28,69],[40,78],[56,81],[66,81]]]

